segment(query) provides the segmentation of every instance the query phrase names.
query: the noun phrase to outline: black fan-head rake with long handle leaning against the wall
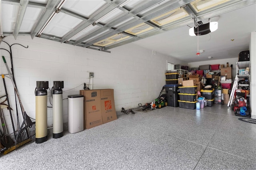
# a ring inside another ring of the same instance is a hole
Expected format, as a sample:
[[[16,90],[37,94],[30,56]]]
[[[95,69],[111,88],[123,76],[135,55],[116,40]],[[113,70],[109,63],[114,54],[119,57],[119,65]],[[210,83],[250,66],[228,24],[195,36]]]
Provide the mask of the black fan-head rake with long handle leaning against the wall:
[[[18,100],[20,102],[20,106],[21,106],[21,109],[22,109],[22,113],[23,113],[23,116],[24,116],[24,120],[22,122],[22,125],[18,131],[18,134],[16,136],[16,139],[15,139],[15,148],[18,148],[24,144],[28,144],[28,143],[32,143],[35,141],[36,139],[36,123],[35,122],[32,122],[30,117],[28,117],[28,115],[26,114],[26,111],[22,105],[22,102],[20,100],[20,96],[19,96],[19,93],[18,93],[18,90],[17,90],[17,87],[12,79],[12,76],[11,76],[11,73],[10,73],[10,70],[8,68],[8,65],[6,63],[6,60],[4,58],[4,56],[2,56],[3,60],[4,60],[4,64],[6,66],[6,69],[10,75],[10,79],[12,80],[12,84],[14,86],[14,91],[16,92],[16,95],[18,97]]]

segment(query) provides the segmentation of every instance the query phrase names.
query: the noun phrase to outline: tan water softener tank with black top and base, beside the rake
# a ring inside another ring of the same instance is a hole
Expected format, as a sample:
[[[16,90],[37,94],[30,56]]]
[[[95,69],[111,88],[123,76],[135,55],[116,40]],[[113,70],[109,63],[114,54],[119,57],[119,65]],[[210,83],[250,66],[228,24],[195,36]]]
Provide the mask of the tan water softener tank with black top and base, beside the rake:
[[[36,81],[36,143],[47,140],[47,91],[48,81]]]

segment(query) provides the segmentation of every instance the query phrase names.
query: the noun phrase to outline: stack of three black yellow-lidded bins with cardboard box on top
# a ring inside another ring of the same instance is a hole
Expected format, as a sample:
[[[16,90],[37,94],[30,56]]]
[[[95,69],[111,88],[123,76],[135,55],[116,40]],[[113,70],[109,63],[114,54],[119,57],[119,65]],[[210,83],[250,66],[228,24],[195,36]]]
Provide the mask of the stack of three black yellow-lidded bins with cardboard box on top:
[[[184,109],[196,109],[196,81],[195,80],[186,80],[183,81],[183,86],[178,87],[180,90],[179,97],[180,100],[179,106]]]

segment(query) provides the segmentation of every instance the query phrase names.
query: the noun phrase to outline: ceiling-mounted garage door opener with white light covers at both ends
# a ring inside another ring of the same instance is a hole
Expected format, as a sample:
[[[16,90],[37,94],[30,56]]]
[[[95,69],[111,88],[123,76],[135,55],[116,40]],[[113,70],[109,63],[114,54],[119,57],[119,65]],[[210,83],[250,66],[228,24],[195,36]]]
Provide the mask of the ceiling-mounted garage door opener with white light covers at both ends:
[[[198,29],[197,29],[198,28]],[[190,36],[202,36],[214,32],[218,29],[218,22],[208,22],[207,24],[202,24],[197,27],[189,29]]]

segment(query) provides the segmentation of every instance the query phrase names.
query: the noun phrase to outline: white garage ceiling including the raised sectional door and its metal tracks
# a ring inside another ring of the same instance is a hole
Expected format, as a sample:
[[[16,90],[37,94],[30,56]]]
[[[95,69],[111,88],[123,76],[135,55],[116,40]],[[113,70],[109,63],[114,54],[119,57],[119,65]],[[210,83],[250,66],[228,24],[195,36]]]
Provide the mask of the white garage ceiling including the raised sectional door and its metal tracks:
[[[31,36],[105,52],[133,43],[187,62],[237,57],[256,31],[256,0],[0,0],[0,9],[0,40]],[[189,36],[209,18],[215,32]]]

